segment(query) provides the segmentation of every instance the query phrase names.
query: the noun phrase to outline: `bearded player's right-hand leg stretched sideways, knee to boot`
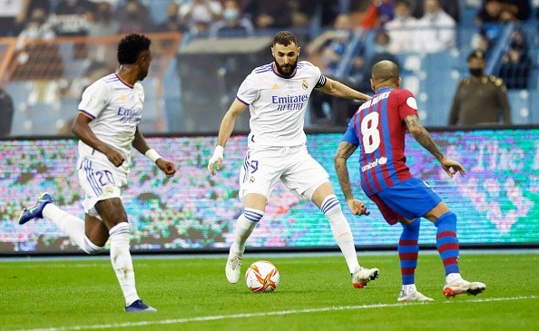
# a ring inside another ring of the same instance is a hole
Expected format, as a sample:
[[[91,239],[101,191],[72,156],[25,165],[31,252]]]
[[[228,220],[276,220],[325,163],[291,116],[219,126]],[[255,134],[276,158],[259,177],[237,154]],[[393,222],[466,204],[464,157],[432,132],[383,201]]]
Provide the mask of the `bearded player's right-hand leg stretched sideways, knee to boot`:
[[[311,200],[326,215],[329,220],[329,227],[333,238],[337,241],[348,269],[352,275],[352,285],[356,288],[367,286],[368,282],[378,277],[377,268],[363,268],[359,266],[356,247],[354,246],[354,237],[340,207],[340,202],[335,195],[333,187],[329,182],[325,182],[314,190]]]

